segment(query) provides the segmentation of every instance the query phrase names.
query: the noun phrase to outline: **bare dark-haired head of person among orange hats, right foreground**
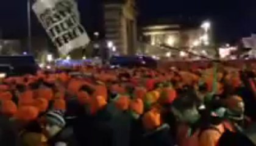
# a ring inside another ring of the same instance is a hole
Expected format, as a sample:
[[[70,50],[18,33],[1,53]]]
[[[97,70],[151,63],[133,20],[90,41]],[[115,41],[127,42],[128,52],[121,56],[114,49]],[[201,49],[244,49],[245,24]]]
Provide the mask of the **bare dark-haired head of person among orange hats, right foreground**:
[[[196,123],[200,119],[200,114],[197,111],[197,101],[188,94],[174,100],[172,113],[177,120],[188,124]]]

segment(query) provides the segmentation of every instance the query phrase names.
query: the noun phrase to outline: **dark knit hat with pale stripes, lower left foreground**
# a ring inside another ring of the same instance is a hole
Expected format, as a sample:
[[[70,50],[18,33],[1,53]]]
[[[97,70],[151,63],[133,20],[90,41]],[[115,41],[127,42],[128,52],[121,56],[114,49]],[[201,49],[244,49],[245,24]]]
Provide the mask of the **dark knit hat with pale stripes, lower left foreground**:
[[[62,111],[49,111],[46,113],[46,121],[52,125],[58,125],[59,127],[64,127],[66,125],[65,119],[63,118],[64,114]]]

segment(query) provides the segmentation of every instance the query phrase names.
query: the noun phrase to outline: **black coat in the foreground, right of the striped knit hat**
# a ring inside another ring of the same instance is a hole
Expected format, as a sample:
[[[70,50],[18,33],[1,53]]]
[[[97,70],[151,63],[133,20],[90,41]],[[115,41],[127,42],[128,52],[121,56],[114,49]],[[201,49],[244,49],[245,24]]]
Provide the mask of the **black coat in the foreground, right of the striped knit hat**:
[[[74,134],[79,145],[112,146],[113,130],[108,124],[110,119],[111,115],[106,108],[94,116],[79,115],[74,121]]]

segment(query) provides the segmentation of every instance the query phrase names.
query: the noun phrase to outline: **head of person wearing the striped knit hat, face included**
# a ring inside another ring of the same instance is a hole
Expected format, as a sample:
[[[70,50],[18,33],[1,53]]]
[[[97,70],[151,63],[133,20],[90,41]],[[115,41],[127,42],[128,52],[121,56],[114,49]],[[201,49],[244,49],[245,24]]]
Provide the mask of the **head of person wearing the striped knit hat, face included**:
[[[45,131],[48,137],[58,134],[66,125],[62,111],[49,111],[45,115],[46,125]]]

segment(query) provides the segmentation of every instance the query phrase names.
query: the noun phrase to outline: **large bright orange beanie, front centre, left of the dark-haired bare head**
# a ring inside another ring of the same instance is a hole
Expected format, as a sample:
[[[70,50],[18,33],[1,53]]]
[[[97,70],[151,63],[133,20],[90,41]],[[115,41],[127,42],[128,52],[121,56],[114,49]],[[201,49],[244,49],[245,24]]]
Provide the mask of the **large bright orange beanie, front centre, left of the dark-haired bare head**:
[[[142,117],[143,127],[146,130],[154,130],[161,125],[160,113],[157,110],[151,109]]]

